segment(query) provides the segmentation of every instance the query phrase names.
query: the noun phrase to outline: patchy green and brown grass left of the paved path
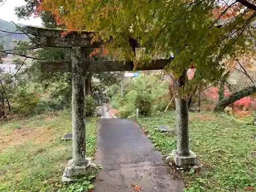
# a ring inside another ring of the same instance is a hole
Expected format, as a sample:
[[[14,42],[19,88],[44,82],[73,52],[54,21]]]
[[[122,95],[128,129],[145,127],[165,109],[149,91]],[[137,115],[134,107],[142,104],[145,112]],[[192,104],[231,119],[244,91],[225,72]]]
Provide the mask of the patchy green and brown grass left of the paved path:
[[[92,157],[96,150],[96,119],[87,123],[87,157]],[[71,132],[70,112],[0,125],[0,191],[76,191],[60,182],[68,160],[72,159],[72,140],[60,138]]]

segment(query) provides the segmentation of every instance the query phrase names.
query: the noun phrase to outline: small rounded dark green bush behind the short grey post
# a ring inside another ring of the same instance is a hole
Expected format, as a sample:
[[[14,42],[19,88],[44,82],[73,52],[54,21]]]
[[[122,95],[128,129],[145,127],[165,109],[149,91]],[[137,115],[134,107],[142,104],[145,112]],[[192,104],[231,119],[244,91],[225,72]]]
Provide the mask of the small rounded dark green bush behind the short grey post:
[[[152,99],[146,92],[138,93],[135,98],[135,106],[139,109],[140,115],[150,115],[152,108]]]

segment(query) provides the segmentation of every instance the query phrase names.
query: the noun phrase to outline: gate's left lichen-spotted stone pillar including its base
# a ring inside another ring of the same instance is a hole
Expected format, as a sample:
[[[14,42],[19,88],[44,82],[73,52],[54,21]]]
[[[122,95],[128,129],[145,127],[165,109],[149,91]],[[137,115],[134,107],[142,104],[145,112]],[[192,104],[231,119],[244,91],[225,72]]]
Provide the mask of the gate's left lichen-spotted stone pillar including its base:
[[[69,182],[73,178],[87,175],[88,168],[96,166],[90,158],[86,158],[86,119],[84,116],[84,50],[72,48],[72,140],[73,159],[64,170],[62,181]]]

